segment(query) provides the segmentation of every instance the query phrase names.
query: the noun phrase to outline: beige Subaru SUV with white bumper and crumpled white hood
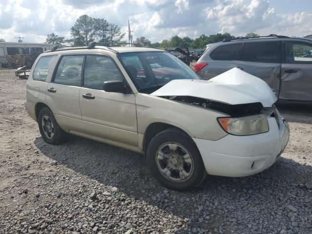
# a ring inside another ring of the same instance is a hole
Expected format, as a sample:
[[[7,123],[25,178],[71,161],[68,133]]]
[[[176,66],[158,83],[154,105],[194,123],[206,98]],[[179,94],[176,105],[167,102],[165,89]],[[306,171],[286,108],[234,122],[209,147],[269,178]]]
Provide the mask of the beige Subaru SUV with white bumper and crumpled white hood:
[[[289,139],[263,80],[238,68],[202,80],[153,48],[54,47],[36,60],[26,99],[47,143],[70,133],[144,153],[156,179],[175,190],[207,174],[261,172]]]

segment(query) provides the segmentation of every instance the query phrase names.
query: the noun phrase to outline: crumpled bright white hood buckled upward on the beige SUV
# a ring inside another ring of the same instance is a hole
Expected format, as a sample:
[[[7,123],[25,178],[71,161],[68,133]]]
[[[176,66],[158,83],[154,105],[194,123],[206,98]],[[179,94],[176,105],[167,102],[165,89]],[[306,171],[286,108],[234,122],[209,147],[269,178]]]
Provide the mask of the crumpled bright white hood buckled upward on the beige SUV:
[[[239,68],[232,68],[210,80],[172,80],[151,95],[190,96],[231,105],[261,102],[263,107],[271,107],[277,100],[265,81]]]

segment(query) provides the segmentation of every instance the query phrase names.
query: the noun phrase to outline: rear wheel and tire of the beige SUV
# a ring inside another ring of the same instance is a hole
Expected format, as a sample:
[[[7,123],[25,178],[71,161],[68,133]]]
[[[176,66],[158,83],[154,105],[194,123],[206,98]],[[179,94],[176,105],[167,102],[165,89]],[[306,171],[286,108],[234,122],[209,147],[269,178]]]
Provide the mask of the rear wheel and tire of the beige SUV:
[[[43,125],[45,122],[47,124]],[[57,120],[48,107],[44,107],[40,110],[38,115],[38,125],[41,137],[45,142],[51,145],[58,145],[66,140],[67,134],[59,127]]]

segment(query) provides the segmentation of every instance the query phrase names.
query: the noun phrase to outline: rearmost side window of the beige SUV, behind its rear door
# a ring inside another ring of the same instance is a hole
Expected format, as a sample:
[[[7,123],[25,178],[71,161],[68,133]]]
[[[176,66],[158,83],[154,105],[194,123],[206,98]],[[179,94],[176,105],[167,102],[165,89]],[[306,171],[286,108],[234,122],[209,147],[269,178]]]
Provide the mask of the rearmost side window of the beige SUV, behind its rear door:
[[[33,79],[45,81],[51,68],[51,64],[56,57],[57,57],[56,55],[41,57],[34,69]]]

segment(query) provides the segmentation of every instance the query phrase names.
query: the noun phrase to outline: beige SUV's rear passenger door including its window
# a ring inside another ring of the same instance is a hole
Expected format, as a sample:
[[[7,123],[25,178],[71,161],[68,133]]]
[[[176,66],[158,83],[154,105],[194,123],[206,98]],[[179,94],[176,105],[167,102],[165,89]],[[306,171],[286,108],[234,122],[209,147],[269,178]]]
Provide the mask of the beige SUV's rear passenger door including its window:
[[[81,120],[79,90],[84,55],[60,58],[51,82],[47,86],[46,102],[59,125],[65,130],[77,130]]]

